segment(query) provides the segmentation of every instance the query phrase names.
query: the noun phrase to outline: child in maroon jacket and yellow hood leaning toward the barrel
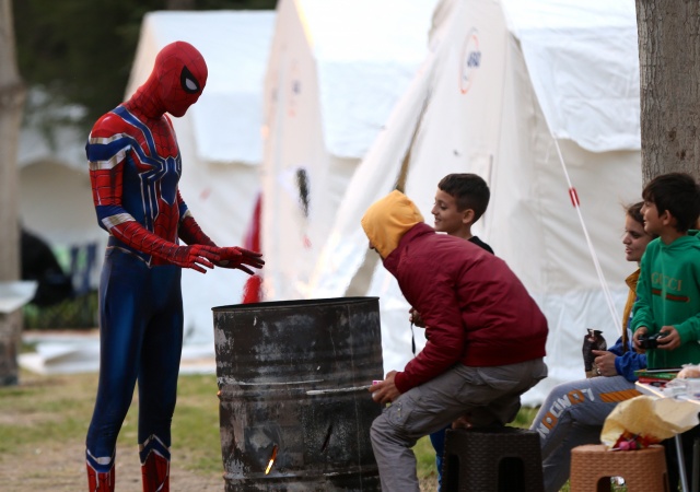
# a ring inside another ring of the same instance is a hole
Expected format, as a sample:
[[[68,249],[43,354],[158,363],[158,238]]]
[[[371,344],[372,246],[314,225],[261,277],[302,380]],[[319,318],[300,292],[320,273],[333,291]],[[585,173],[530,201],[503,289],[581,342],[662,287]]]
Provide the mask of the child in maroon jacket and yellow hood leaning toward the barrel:
[[[425,348],[370,388],[392,402],[371,429],[383,491],[419,492],[416,442],[466,415],[505,424],[520,397],[547,376],[547,320],[505,262],[423,223],[400,191],[362,218],[370,247],[425,321]]]

